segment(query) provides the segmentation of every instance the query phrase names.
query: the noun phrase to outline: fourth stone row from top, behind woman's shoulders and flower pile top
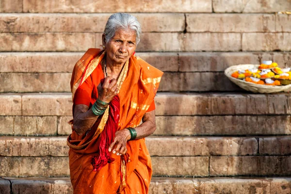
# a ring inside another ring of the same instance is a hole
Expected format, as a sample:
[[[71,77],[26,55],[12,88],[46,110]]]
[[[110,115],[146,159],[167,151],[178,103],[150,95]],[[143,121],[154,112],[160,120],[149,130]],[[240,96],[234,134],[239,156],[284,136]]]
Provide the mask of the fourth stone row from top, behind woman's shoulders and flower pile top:
[[[0,73],[72,73],[83,54],[0,52]],[[291,52],[137,52],[136,56],[164,72],[224,72],[231,65],[260,64],[262,60],[291,66]]]

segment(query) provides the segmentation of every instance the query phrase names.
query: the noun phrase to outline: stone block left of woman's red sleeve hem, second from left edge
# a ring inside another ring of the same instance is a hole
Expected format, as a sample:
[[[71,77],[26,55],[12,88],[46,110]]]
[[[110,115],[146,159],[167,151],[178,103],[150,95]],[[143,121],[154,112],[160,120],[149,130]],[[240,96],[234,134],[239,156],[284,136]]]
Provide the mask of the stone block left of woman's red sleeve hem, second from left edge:
[[[22,96],[22,100],[23,115],[72,115],[70,94],[27,94]]]

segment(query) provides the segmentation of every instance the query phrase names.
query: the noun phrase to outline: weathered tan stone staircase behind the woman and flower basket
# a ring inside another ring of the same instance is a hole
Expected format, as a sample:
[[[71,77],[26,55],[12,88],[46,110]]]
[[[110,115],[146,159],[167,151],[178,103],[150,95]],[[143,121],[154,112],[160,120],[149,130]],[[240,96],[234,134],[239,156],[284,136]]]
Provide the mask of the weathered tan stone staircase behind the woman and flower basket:
[[[71,194],[66,137],[76,61],[113,12],[162,71],[146,138],[150,194],[290,194],[291,94],[252,94],[230,65],[291,66],[289,0],[0,0],[0,194]]]

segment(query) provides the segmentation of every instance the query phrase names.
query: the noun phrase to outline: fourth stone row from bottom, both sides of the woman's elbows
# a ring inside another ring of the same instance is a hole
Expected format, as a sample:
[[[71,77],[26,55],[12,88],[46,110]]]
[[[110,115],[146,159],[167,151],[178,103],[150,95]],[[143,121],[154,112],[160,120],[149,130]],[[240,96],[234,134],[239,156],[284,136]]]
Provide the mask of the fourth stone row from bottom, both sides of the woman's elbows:
[[[0,116],[0,135],[69,135],[72,116]],[[290,135],[290,115],[156,116],[153,135]]]

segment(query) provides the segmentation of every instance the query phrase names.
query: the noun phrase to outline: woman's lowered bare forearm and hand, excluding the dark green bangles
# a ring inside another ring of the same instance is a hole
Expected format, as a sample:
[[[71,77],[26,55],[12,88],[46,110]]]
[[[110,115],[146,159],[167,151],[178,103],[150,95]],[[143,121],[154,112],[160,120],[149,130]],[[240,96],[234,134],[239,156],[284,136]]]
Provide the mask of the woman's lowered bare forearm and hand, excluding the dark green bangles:
[[[156,130],[155,110],[145,113],[143,116],[143,123],[136,127],[136,139],[147,137]],[[118,130],[115,133],[114,141],[109,146],[109,152],[116,153],[116,155],[124,155],[127,152],[126,143],[131,138],[129,129]]]

